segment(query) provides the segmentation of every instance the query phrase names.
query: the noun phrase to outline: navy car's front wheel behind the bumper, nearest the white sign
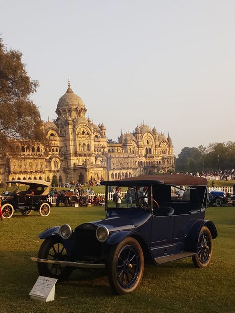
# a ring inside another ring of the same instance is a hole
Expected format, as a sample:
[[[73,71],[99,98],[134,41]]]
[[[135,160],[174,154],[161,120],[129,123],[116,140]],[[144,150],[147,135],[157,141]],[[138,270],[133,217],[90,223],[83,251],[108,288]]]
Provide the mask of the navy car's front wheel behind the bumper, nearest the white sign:
[[[67,251],[61,240],[57,236],[47,238],[42,243],[38,258],[56,261],[68,261]],[[71,274],[73,268],[70,266],[49,264],[38,262],[38,272],[41,276],[57,278],[58,280],[65,280]]]

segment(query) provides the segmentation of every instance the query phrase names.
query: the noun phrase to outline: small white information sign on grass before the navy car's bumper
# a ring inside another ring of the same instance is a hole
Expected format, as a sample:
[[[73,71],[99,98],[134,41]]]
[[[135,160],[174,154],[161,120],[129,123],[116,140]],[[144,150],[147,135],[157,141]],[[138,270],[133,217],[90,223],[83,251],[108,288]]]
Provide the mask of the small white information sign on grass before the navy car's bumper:
[[[30,297],[43,302],[53,301],[56,282],[55,278],[39,276],[29,293]]]

